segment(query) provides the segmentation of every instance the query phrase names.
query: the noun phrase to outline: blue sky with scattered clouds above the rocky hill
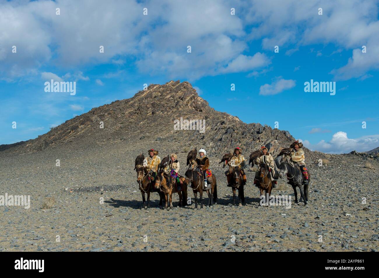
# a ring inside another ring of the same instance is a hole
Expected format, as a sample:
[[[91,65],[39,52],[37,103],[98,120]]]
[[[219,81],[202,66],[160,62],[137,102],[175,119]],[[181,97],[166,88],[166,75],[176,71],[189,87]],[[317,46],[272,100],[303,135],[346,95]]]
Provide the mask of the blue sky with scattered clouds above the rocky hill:
[[[0,144],[180,79],[312,150],[368,151],[379,146],[378,3],[0,1]],[[76,95],[44,92],[50,79],[77,82]],[[335,81],[335,95],[304,92],[311,79]]]

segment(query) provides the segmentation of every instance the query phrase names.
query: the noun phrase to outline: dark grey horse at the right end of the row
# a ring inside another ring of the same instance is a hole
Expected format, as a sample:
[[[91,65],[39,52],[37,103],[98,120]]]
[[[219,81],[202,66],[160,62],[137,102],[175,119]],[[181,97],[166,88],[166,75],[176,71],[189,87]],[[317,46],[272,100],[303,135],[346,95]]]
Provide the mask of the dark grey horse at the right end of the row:
[[[296,191],[296,187],[299,187],[300,189],[300,202],[303,200],[304,205],[307,204],[308,197],[309,197],[309,183],[307,185],[304,185],[304,192],[302,188],[302,173],[301,171],[293,165],[292,162],[288,160],[287,157],[282,158],[280,166],[279,166],[279,177],[280,179],[283,179],[284,175],[286,174],[288,179],[290,180],[290,184],[293,188],[294,195],[295,195],[295,203],[299,205],[298,202],[298,193]],[[309,181],[310,181],[310,174],[309,175]]]

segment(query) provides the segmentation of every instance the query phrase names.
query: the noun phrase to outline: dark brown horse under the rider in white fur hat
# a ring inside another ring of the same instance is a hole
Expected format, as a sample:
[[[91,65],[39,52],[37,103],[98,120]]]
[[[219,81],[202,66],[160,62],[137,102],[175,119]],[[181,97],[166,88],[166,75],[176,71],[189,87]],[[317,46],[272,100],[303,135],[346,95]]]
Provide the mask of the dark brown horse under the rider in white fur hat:
[[[199,167],[197,167],[196,170],[194,170],[194,168],[188,168],[185,176],[189,182],[191,182],[191,188],[195,196],[195,208],[197,208],[197,192],[200,193],[200,208],[203,208],[204,179],[202,176],[202,170],[199,169]],[[214,174],[211,175],[210,182],[211,189],[206,190],[208,194],[208,206],[213,205],[213,203],[217,203],[217,184]]]

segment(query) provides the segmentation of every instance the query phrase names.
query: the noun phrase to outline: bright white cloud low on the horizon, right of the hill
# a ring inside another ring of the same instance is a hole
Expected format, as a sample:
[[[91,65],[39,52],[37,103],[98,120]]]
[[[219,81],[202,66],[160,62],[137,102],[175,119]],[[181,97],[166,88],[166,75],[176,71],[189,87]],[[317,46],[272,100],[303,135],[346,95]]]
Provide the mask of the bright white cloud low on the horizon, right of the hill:
[[[350,139],[346,132],[338,131],[333,135],[329,142],[325,140],[321,140],[317,144],[310,144],[308,140],[302,142],[305,147],[312,151],[321,151],[330,154],[342,154],[354,150],[364,152],[370,151],[379,146],[379,134]]]

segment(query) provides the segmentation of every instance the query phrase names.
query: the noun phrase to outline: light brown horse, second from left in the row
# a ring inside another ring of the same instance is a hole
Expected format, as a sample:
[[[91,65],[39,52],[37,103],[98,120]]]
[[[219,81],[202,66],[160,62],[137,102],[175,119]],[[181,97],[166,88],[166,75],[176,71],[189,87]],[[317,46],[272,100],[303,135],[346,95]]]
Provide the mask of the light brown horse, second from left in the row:
[[[164,200],[166,201],[166,206],[164,208],[167,208],[170,210],[170,208],[173,208],[172,206],[172,193],[178,193],[179,195],[179,204],[178,206],[185,206],[186,200],[187,200],[187,179],[185,177],[179,177],[180,180],[183,182],[183,195],[182,191],[177,191],[177,188],[175,186],[175,180],[170,177],[169,174],[166,172],[159,172],[157,175],[157,180],[155,181],[155,189],[159,189],[161,191],[161,194],[164,196]],[[162,198],[163,199],[163,198]]]

